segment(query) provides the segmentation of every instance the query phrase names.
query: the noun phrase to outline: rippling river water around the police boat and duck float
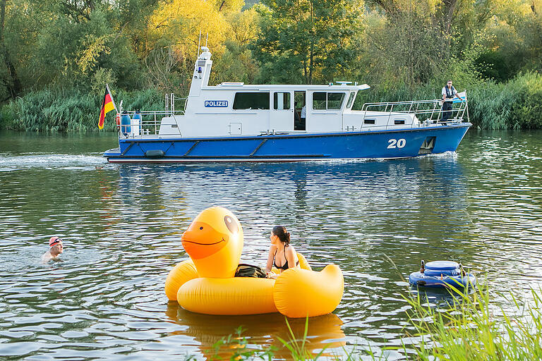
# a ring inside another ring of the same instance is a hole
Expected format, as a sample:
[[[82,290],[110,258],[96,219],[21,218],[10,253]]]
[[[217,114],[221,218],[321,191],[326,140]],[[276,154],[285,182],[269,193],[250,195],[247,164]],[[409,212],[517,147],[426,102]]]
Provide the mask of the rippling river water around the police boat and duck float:
[[[404,279],[421,259],[462,262],[505,310],[508,290],[528,301],[542,285],[541,131],[469,130],[456,153],[392,161],[114,165],[100,154],[112,147],[115,135],[0,133],[2,360],[203,359],[239,326],[248,348],[287,357],[279,314],[167,302],[180,234],[212,205],[241,221],[243,262],[264,266],[282,224],[313,269],[342,268],[341,304],[308,324],[325,355],[404,357]],[[52,235],[64,254],[42,264]],[[302,336],[305,320],[290,322]]]

